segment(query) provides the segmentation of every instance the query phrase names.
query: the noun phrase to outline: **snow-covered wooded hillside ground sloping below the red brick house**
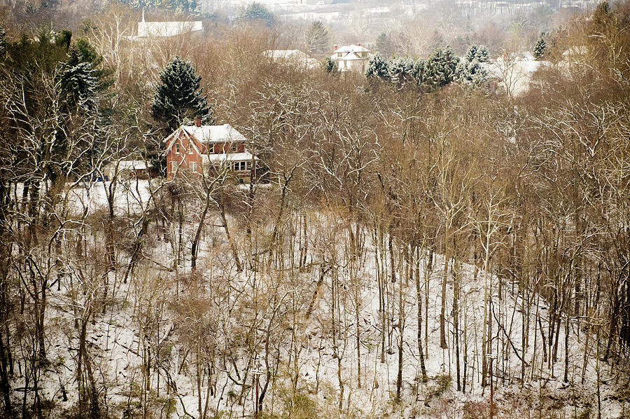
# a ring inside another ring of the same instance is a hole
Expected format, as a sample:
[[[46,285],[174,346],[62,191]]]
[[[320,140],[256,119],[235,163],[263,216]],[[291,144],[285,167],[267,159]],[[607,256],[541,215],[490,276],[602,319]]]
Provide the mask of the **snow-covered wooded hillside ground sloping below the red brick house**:
[[[145,181],[134,181],[123,191],[116,200],[118,209],[134,212],[146,207],[149,193]],[[78,207],[87,205],[97,210],[106,205],[103,184],[76,188],[71,193]],[[267,322],[269,327],[274,324],[280,329],[272,334],[280,362],[276,367],[270,367],[274,385],[269,388],[269,395],[265,399],[266,411],[278,413],[281,410],[281,400],[286,397],[292,379],[297,377],[297,389],[304,397],[316,401],[318,406],[324,406],[319,412],[327,416],[339,414],[335,410],[341,394],[339,383],[344,387],[342,406],[348,417],[463,418],[464,412],[468,412],[468,417],[475,417],[470,416],[470,412],[475,409],[487,413],[484,408],[489,402],[490,387],[481,385],[482,350],[479,346],[486,289],[483,273],[479,270],[475,273],[475,267],[467,263],[458,267],[461,290],[457,325],[454,310],[456,282],[452,270],[448,273],[445,315],[449,349],[443,349],[440,347],[440,308],[444,260],[442,256],[436,255],[430,273],[424,270],[426,260],[421,261],[419,278],[422,315],[426,318],[421,322],[423,330],[420,336],[429,378],[428,383],[422,383],[419,380],[421,371],[414,281],[405,275],[397,275],[395,282],[389,277],[381,278],[385,292],[381,299],[376,279],[379,275],[377,263],[387,263],[387,259],[384,257],[386,255],[378,252],[370,235],[366,235],[364,252],[354,265],[358,270],[352,270],[352,266],[344,259],[345,232],[340,227],[340,221],[337,223],[330,214],[318,212],[309,214],[309,217],[312,226],[306,236],[311,249],[309,268],[290,273],[290,278],[284,279],[290,283],[267,284],[260,307],[254,309],[252,304],[255,306],[256,298],[249,294],[251,284],[262,281],[267,274],[271,275],[273,269],[251,270],[245,263],[243,272],[235,273],[229,256],[225,258],[225,254],[230,254],[229,246],[218,214],[211,214],[202,240],[202,266],[197,270],[204,278],[202,282],[207,282],[205,287],[215,290],[202,291],[202,294],[218,293],[221,290],[225,293],[221,294],[221,305],[216,303],[218,296],[204,294],[204,298],[207,298],[203,299],[206,301],[204,310],[214,310],[213,318],[217,322],[206,326],[209,328],[208,333],[212,329],[211,336],[218,339],[211,346],[229,349],[228,341],[236,339],[232,333],[241,333],[243,329],[253,327],[256,337],[252,344],[258,348],[258,355],[248,358],[250,355],[247,355],[246,347],[242,343],[234,343],[239,348],[232,354],[235,356],[234,364],[221,363],[216,366],[213,376],[204,376],[207,382],[197,381],[194,358],[189,353],[191,348],[196,348],[199,338],[191,337],[197,341],[191,341],[193,343],[186,346],[183,345],[183,337],[176,337],[174,333],[175,329],[182,329],[182,324],[178,323],[181,321],[178,310],[183,308],[178,306],[178,302],[186,301],[186,296],[192,292],[186,277],[192,275],[189,243],[195,225],[187,224],[183,228],[186,243],[184,250],[188,252],[188,258],[181,263],[177,272],[168,268],[172,266],[174,258],[172,245],[158,239],[157,242],[152,241],[151,247],[144,248],[146,263],[132,280],[125,284],[120,273],[112,273],[109,289],[113,296],[111,303],[104,314],[95,315],[87,335],[90,352],[95,354],[92,362],[97,382],[103,385],[102,397],[107,400],[111,413],[125,411],[130,406],[135,409],[148,408],[150,401],[146,397],[153,399],[155,404],[158,403],[156,400],[163,403],[170,397],[174,401],[172,411],[176,417],[199,417],[202,399],[203,406],[211,406],[210,411],[216,413],[229,412],[230,417],[251,415],[255,381],[252,376],[239,378],[239,369],[245,371],[245,364],[253,362],[253,372],[258,370],[262,374],[258,375],[260,382],[265,378],[267,367],[261,349],[265,339],[261,336],[264,335]],[[241,235],[237,219],[230,219],[230,228],[237,238]],[[262,226],[260,228],[265,229]],[[332,238],[332,242],[323,245],[324,237]],[[335,268],[326,270],[323,260],[330,262],[335,258]],[[151,260],[160,261],[160,264],[151,263]],[[124,267],[120,270],[123,271]],[[282,272],[285,271],[276,270],[273,275],[281,275]],[[319,278],[323,278],[323,281],[317,292]],[[556,361],[552,360],[553,348],[549,346],[545,348],[549,352],[545,361],[542,356],[541,331],[547,333],[549,329],[550,316],[546,303],[528,290],[519,290],[518,284],[490,275],[487,280],[487,298],[490,303],[485,307],[489,308],[489,318],[493,324],[490,336],[492,355],[489,359],[493,362],[493,397],[499,409],[497,417],[551,417],[551,414],[556,417],[575,417],[589,409],[596,412],[594,392],[598,370],[603,418],[621,417],[624,407],[615,396],[617,390],[613,378],[616,371],[609,364],[598,361],[594,337],[576,327],[573,320],[568,320],[569,380],[565,382],[566,319],[562,319],[562,327],[558,329]],[[216,285],[218,288],[213,288],[211,282],[221,281],[227,281],[227,288]],[[76,310],[69,311],[69,301],[72,300],[72,304],[79,307],[79,313],[87,307],[87,294],[71,298],[70,291],[69,284],[65,282],[59,289],[50,289],[52,308],[48,312],[46,336],[50,348],[54,350],[48,354],[52,363],[41,378],[45,397],[57,401],[59,408],[69,408],[76,403],[73,359],[76,359],[77,334],[73,319],[77,314]],[[289,322],[290,313],[285,312],[283,315],[286,319],[283,322],[276,324],[274,320],[269,320],[269,310],[274,308],[274,301],[279,296],[281,300],[295,298],[296,301],[298,296],[305,296],[305,301],[293,305],[302,317]],[[309,296],[316,297],[312,310],[308,307]],[[384,303],[384,311],[379,310],[379,301]],[[186,327],[192,328],[191,324],[201,322],[195,318],[186,317],[186,322],[190,322]],[[332,322],[332,318],[336,319],[335,322]],[[457,335],[454,334],[455,327],[459,330]],[[221,333],[222,328],[229,329]],[[458,341],[455,341],[456,336]],[[356,341],[360,342],[359,348]],[[401,400],[395,401],[398,345],[401,342],[402,394]],[[147,352],[155,348],[160,350],[157,355]],[[456,352],[459,357],[456,357]],[[229,358],[228,355],[224,356]],[[153,360],[150,365],[147,364],[148,359]],[[461,374],[459,381],[465,391],[456,390],[458,363]],[[525,378],[522,382],[521,376]],[[239,385],[242,381],[248,383],[246,387]],[[20,383],[14,384],[20,386]],[[23,383],[21,385],[24,387]],[[142,392],[143,386],[151,388],[151,391]],[[210,387],[216,391],[210,392]],[[244,398],[239,399],[241,391]],[[67,392],[67,401],[62,401],[64,392]],[[203,397],[200,397],[200,392]],[[144,394],[144,400],[141,394]],[[237,399],[239,402],[235,401]]]

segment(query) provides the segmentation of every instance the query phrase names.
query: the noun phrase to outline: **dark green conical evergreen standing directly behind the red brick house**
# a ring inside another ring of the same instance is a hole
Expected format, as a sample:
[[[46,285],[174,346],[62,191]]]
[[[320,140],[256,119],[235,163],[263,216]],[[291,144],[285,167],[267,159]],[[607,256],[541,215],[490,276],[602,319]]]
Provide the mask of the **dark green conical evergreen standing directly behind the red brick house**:
[[[160,71],[151,104],[153,118],[166,123],[171,130],[181,125],[183,118],[200,116],[204,123],[212,123],[212,111],[200,89],[198,76],[190,62],[175,57]]]

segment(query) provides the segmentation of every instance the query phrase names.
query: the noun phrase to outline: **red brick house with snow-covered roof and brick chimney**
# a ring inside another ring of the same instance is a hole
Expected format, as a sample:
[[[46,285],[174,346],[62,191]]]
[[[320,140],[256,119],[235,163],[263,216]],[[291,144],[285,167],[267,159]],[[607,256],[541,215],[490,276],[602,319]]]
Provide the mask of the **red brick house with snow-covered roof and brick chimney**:
[[[207,172],[211,167],[237,172],[241,179],[251,179],[257,160],[246,151],[248,139],[230,124],[182,125],[169,135],[166,142],[167,179],[178,174]]]

